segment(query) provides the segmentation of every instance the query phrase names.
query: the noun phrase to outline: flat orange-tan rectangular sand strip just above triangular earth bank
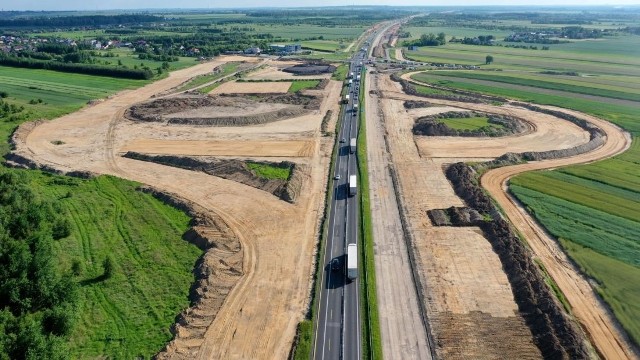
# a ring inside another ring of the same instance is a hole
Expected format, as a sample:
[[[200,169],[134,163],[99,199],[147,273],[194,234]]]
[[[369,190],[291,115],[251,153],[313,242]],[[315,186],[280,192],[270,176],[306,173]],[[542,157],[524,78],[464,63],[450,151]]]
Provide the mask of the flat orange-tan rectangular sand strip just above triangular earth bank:
[[[310,157],[315,151],[315,141],[136,139],[120,149],[120,152],[127,151],[144,152],[146,154],[196,156]]]

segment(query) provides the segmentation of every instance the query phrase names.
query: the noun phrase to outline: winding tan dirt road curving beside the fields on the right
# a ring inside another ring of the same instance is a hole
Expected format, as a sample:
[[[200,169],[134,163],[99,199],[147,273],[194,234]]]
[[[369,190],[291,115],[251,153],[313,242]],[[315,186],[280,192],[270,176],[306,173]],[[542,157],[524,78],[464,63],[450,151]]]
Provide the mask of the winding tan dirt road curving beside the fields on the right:
[[[637,358],[629,339],[620,329],[613,314],[596,295],[580,270],[569,260],[560,244],[507,193],[509,179],[517,174],[606,159],[627,150],[631,145],[631,137],[607,121],[576,111],[547,108],[579,116],[600,127],[607,134],[606,143],[594,151],[573,157],[536,161],[488,171],[481,178],[482,187],[500,204],[509,220],[527,239],[535,256],[542,261],[571,304],[572,314],[582,325],[599,355],[605,359]]]

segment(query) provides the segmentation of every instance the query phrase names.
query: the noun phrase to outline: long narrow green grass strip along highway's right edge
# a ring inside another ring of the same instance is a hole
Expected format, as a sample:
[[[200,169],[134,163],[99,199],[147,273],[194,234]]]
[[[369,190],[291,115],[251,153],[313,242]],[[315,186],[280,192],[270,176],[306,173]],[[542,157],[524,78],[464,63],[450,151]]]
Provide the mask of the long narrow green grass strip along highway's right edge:
[[[360,194],[360,244],[362,259],[360,260],[361,268],[364,270],[361,276],[361,287],[364,301],[361,301],[361,306],[364,308],[363,313],[366,317],[362,318],[363,342],[368,345],[367,351],[363,358],[370,359],[382,359],[382,338],[380,335],[380,320],[378,317],[378,298],[376,293],[376,272],[374,262],[374,248],[373,248],[373,227],[371,222],[371,200],[369,197],[369,170],[367,164],[367,136],[366,136],[366,121],[364,113],[364,71],[361,73],[362,82],[360,84],[359,95],[359,108],[360,114],[358,121],[360,126],[358,127],[358,175],[359,175],[359,189]],[[367,356],[368,354],[368,356]]]

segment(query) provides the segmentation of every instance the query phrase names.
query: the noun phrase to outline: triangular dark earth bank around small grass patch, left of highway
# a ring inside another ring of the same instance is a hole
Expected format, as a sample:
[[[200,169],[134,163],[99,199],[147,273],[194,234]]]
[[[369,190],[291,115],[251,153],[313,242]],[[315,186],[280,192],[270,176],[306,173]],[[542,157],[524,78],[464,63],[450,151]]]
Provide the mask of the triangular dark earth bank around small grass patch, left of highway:
[[[209,175],[237,181],[241,184],[264,190],[290,203],[295,203],[298,195],[300,194],[302,179],[304,178],[304,166],[300,166],[289,161],[268,163],[272,166],[290,169],[291,175],[289,176],[289,179],[282,180],[265,179],[260,177],[255,173],[255,171],[251,170],[247,166],[246,161],[236,159],[226,160],[211,157],[148,155],[137,152],[127,152],[123,157],[179,167],[187,170],[202,171]]]

